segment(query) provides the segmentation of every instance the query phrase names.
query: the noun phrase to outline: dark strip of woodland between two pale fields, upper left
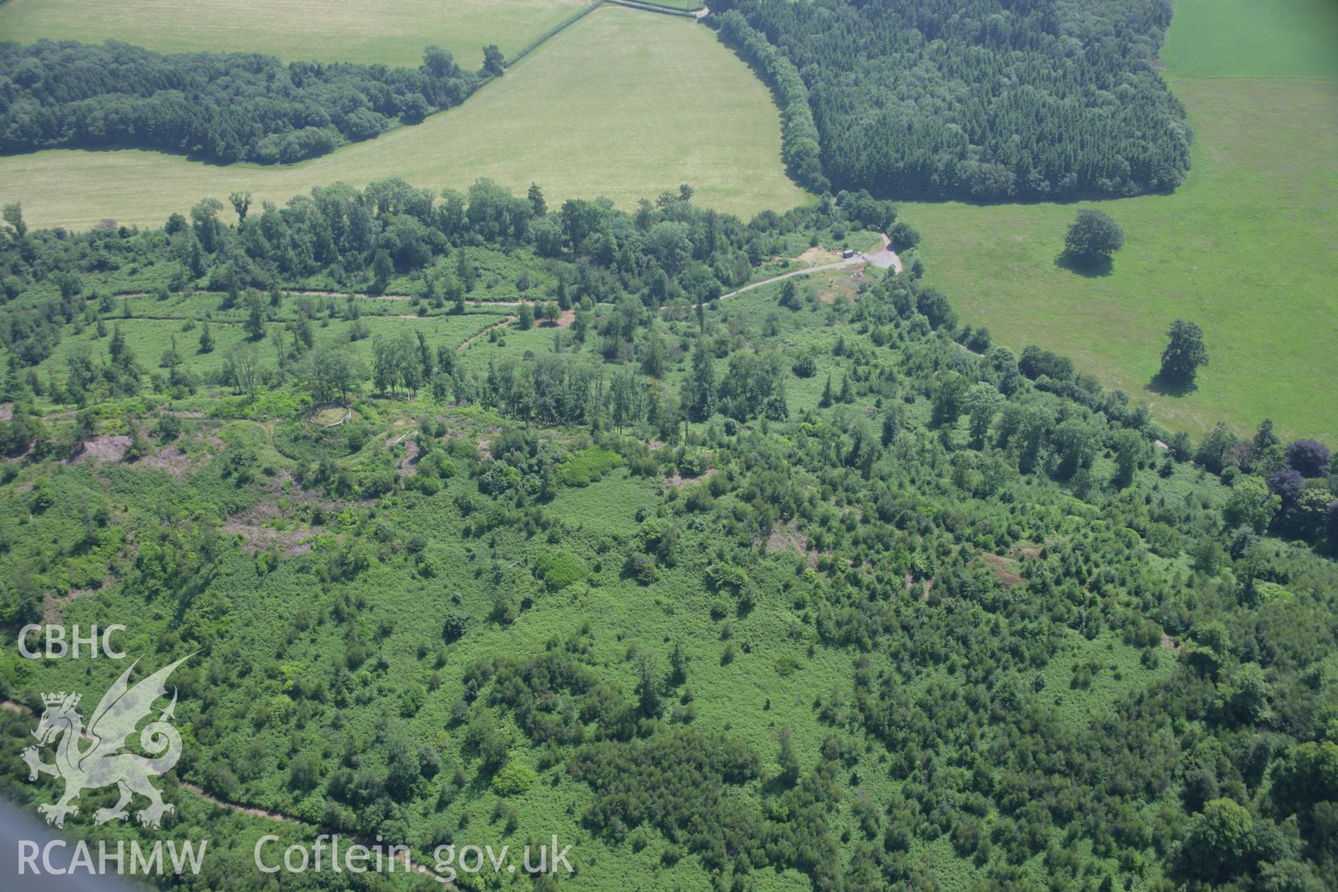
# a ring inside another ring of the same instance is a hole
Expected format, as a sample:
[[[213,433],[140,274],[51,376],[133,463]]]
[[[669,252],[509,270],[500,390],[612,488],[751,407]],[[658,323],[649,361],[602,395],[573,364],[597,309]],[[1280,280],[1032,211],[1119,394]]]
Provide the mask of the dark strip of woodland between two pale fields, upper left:
[[[260,53],[162,55],[108,40],[0,43],[0,152],[153,148],[290,163],[417,123],[483,83],[428,47],[417,70],[282,63]]]

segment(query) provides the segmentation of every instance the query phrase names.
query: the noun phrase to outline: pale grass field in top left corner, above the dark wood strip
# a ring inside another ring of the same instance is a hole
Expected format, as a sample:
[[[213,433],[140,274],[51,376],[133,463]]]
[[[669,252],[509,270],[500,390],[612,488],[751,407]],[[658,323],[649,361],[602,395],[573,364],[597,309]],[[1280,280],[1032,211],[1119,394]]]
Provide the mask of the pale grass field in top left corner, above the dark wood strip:
[[[423,47],[466,68],[495,43],[510,56],[589,0],[9,0],[0,35],[32,43],[123,40],[159,52],[265,52],[281,59],[416,67]]]

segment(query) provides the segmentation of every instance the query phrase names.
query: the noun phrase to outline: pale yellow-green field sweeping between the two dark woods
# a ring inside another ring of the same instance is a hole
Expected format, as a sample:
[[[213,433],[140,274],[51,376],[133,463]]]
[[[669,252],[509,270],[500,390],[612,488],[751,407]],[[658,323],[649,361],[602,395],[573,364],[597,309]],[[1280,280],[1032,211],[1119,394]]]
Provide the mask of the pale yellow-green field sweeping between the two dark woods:
[[[780,162],[767,87],[716,40],[674,16],[599,9],[463,106],[289,167],[201,164],[146,151],[45,151],[0,159],[0,199],[33,226],[102,218],[158,225],[206,195],[285,202],[317,185],[401,177],[466,189],[487,177],[550,205],[606,195],[622,207],[690,183],[697,202],[741,215],[801,203]]]

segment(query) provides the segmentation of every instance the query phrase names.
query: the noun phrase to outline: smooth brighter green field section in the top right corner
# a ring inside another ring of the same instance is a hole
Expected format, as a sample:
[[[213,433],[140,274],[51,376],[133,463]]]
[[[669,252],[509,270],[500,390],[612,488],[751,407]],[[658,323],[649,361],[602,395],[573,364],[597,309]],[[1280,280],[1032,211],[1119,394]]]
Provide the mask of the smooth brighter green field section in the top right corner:
[[[1338,78],[1333,0],[1176,0],[1161,60],[1173,78]]]

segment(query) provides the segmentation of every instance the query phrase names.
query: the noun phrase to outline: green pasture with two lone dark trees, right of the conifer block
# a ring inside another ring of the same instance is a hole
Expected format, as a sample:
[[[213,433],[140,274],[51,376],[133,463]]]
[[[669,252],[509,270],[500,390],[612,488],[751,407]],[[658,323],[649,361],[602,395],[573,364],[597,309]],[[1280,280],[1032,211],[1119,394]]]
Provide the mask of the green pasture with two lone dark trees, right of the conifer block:
[[[1234,74],[1262,20],[1276,39],[1240,72],[1318,74],[1331,52],[1283,41],[1306,32],[1331,45],[1333,7],[1220,5],[1176,4],[1167,58],[1184,66],[1169,75],[1195,128],[1193,166],[1172,195],[1100,203],[1125,233],[1109,275],[1054,263],[1085,205],[909,203],[903,214],[925,234],[929,282],[997,342],[1066,353],[1191,433],[1272,417],[1290,436],[1331,441],[1338,404],[1314,388],[1338,373],[1338,82],[1181,75]],[[1203,328],[1211,365],[1196,391],[1167,396],[1148,385],[1176,317]]]

